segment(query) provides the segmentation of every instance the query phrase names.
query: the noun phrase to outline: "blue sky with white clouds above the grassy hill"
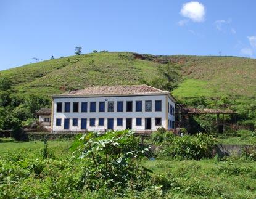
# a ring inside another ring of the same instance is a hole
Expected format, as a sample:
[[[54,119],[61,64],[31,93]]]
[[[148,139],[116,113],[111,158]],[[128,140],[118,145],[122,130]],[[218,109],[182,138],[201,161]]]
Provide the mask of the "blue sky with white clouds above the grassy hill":
[[[0,70],[93,50],[256,58],[255,0],[0,0]]]

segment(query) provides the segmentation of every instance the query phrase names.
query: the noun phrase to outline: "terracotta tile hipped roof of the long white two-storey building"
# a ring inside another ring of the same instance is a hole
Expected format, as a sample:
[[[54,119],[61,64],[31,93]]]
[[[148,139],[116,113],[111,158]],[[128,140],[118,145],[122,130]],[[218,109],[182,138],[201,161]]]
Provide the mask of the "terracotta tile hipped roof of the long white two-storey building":
[[[133,86],[93,86],[86,89],[67,92],[61,95],[123,95],[123,94],[170,94],[147,85]],[[55,96],[55,95],[53,95]]]

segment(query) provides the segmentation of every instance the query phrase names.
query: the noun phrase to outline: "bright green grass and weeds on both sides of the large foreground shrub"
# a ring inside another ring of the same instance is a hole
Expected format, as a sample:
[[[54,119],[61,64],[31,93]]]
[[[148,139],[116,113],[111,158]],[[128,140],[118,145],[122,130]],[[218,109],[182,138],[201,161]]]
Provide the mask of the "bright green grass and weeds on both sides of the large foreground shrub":
[[[12,196],[19,194],[25,198],[26,196],[40,198],[41,195],[43,198],[44,195],[50,194],[47,187],[52,185],[51,175],[56,175],[53,171],[65,165],[64,170],[60,172],[60,176],[54,177],[53,183],[55,183],[54,186],[56,187],[68,187],[68,184],[71,185],[74,182],[68,179],[64,181],[63,177],[78,176],[83,166],[80,161],[70,159],[72,153],[68,148],[72,141],[49,141],[48,147],[54,153],[54,160],[46,160],[47,167],[41,171],[39,177],[36,177],[35,173],[27,174],[27,169],[33,168],[34,170],[36,169],[35,172],[38,172],[37,169],[40,168],[40,165],[43,165],[44,161],[41,158],[43,142],[16,143],[11,140],[4,141],[0,143],[0,173],[6,173],[5,169],[8,166],[11,170],[8,171],[10,172],[10,184],[8,185],[10,190],[6,190],[7,181],[2,179],[0,182],[2,184],[0,185],[0,192],[2,190],[2,193]],[[231,157],[221,161],[217,158],[200,161],[143,160],[142,164],[151,169],[154,172],[153,175],[158,176],[157,179],[161,179],[161,176],[168,176],[172,189],[164,193],[165,198],[256,197],[256,164],[254,161],[244,158]],[[67,168],[65,169],[65,167]],[[19,174],[14,173],[15,170],[12,169],[19,171]],[[25,174],[23,174],[24,172]],[[22,175],[25,175],[25,177]],[[17,179],[18,176],[22,177]],[[71,193],[68,190],[56,187],[52,192],[64,192],[64,195],[73,194],[73,197],[76,198],[102,198],[102,195],[105,195],[105,198],[109,198],[109,193]],[[148,191],[143,193],[140,198],[163,198],[163,193],[157,190],[154,192]]]

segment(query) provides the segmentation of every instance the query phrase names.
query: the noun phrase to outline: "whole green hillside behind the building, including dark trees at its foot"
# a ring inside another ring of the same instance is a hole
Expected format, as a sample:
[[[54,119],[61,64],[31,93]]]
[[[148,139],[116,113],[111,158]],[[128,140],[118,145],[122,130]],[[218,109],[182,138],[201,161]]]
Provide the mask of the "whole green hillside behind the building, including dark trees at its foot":
[[[173,91],[179,102],[191,107],[235,110],[238,124],[254,130],[255,65],[256,60],[241,57],[131,52],[95,52],[31,63],[0,71],[0,129],[8,129],[13,123],[31,123],[39,108],[51,106],[51,94],[86,86],[143,83]],[[30,99],[39,105],[28,104]],[[197,118],[196,123],[204,128],[195,132],[215,131],[214,120]]]

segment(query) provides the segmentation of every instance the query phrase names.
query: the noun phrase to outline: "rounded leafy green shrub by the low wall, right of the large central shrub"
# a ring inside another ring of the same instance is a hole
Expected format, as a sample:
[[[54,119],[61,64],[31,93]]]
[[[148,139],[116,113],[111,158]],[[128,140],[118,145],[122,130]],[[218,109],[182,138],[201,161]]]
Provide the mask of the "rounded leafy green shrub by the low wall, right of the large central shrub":
[[[179,159],[212,158],[212,150],[217,140],[207,134],[196,134],[196,136],[175,137],[171,145],[165,145],[160,151],[160,156],[171,156]]]

